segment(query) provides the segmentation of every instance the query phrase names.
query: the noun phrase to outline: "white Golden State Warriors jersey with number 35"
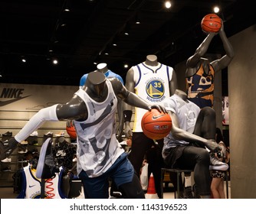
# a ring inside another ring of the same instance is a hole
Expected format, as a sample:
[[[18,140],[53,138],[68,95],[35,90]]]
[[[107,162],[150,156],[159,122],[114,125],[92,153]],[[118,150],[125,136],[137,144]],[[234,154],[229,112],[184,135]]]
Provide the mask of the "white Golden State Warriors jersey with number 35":
[[[158,66],[147,66],[139,63],[132,67],[135,93],[147,102],[159,104],[170,96],[169,82],[172,79],[173,69],[159,63]],[[135,108],[133,131],[142,132],[141,120],[147,110]]]

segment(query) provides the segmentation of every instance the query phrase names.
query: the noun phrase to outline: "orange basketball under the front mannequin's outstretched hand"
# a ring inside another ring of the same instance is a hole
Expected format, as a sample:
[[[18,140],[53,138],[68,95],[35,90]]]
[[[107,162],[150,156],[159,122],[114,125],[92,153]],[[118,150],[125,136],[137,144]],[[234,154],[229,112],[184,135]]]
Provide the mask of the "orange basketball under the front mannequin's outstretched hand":
[[[159,140],[166,137],[172,128],[172,118],[167,113],[151,109],[141,120],[141,127],[146,137]]]

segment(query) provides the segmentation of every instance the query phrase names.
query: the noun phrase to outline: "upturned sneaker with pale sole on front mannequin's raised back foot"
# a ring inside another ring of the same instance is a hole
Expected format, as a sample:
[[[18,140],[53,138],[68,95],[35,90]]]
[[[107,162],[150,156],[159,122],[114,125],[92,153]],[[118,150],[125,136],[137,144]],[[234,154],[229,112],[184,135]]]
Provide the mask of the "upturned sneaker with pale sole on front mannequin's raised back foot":
[[[55,173],[59,172],[57,162],[54,160],[51,144],[51,138],[48,138],[41,147],[36,171],[36,177],[38,178],[50,179],[55,177]]]

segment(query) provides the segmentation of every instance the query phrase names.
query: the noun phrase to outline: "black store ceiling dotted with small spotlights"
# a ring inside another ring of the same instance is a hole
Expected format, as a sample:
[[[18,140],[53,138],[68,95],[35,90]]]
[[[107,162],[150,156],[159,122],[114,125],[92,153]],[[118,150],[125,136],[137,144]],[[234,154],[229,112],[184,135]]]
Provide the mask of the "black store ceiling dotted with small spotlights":
[[[215,4],[222,7],[219,15],[228,37],[256,23],[253,1],[171,0],[169,10],[163,2],[0,0],[0,83],[77,86],[80,76],[96,70],[94,62],[107,63],[125,79],[130,66],[148,54],[175,66],[204,39],[200,22]],[[141,24],[135,24],[136,16]],[[129,36],[123,34],[125,28]],[[218,37],[209,51],[223,53]],[[54,57],[57,65],[51,63]],[[129,67],[123,68],[123,63]]]

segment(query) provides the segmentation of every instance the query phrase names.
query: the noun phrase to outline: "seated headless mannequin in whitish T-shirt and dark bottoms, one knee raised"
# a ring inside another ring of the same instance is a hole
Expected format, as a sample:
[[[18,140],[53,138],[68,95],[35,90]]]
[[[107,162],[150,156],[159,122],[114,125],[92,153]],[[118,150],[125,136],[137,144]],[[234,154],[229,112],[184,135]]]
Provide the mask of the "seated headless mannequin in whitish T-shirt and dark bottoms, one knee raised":
[[[194,170],[195,184],[201,198],[211,198],[209,151],[220,151],[215,141],[215,111],[199,109],[185,92],[163,102],[172,118],[172,129],[164,140],[162,155],[168,167]]]

